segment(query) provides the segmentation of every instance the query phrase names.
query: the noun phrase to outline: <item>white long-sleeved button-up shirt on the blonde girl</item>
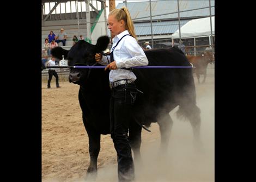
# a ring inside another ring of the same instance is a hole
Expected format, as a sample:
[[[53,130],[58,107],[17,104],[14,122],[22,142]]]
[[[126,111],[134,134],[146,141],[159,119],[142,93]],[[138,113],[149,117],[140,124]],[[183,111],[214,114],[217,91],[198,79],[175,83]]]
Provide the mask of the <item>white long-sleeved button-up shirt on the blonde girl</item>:
[[[128,30],[118,34],[113,38],[112,48],[117,44],[117,42],[124,35],[129,34]],[[111,51],[112,51],[111,48]],[[118,46],[114,49],[114,61],[117,65],[117,70],[111,70],[109,72],[109,81],[114,82],[121,79],[131,79],[132,81],[136,80],[136,76],[130,70],[124,70],[120,68],[130,68],[134,66],[147,66],[148,58],[146,57],[141,46],[138,45],[136,39],[132,36],[125,36],[119,43]],[[108,56],[108,60],[110,61],[110,56]],[[99,61],[101,65],[108,65],[108,61],[106,56],[103,56],[101,61]]]

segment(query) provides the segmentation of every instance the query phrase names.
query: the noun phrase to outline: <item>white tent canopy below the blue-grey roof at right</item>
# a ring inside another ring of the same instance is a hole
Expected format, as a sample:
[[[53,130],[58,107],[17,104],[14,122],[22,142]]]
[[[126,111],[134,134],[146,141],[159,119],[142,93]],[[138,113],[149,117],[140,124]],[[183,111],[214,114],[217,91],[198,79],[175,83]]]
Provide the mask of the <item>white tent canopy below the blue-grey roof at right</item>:
[[[214,16],[211,17],[212,23],[212,35],[214,35]],[[171,36],[173,39],[179,39],[179,32],[181,32],[181,39],[188,37],[198,37],[198,36],[210,36],[211,35],[211,24],[210,17],[198,18],[191,20],[184,24],[179,29],[176,30]]]

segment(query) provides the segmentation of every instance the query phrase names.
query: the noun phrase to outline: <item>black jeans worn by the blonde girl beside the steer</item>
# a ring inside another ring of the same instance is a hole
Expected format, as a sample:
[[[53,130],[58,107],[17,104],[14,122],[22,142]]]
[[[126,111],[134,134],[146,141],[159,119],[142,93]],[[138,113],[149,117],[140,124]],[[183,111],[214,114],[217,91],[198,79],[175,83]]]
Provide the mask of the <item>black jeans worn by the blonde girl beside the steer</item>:
[[[119,182],[132,181],[135,178],[128,130],[136,95],[134,83],[119,85],[111,90],[110,131],[117,151]]]

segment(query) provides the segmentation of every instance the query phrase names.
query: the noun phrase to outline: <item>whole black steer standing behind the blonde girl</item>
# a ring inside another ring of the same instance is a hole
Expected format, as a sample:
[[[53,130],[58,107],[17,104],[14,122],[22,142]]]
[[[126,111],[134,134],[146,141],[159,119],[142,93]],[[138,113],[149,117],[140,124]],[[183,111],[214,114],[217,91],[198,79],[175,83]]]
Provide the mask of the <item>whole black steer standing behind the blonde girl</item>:
[[[53,57],[68,59],[68,65],[94,65],[95,54],[108,46],[109,38],[101,36],[96,45],[80,40],[70,51],[61,47],[52,49]],[[149,66],[191,66],[178,48],[161,48],[145,51]],[[96,64],[95,66],[102,66]],[[157,122],[161,131],[161,148],[168,145],[172,118],[169,112],[176,106],[178,116],[184,116],[192,125],[194,141],[200,143],[200,109],[196,105],[196,91],[192,68],[134,69],[136,85],[143,93],[135,102],[133,121],[129,128],[129,140],[135,159],[140,158],[141,123],[149,127]],[[89,137],[90,165],[88,173],[96,173],[100,151],[100,135],[109,134],[109,71],[104,69],[71,68],[69,81],[80,85],[78,98],[83,113],[83,123]],[[125,116],[124,116],[125,117]]]

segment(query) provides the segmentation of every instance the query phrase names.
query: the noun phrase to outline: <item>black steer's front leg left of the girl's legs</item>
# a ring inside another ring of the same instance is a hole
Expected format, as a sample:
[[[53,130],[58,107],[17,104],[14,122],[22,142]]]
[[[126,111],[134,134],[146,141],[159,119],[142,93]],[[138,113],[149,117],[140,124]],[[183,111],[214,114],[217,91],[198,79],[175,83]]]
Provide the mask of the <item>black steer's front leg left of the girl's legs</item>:
[[[83,123],[89,137],[90,164],[87,170],[86,178],[95,179],[97,175],[97,157],[100,152],[100,134],[86,121],[83,116]]]

